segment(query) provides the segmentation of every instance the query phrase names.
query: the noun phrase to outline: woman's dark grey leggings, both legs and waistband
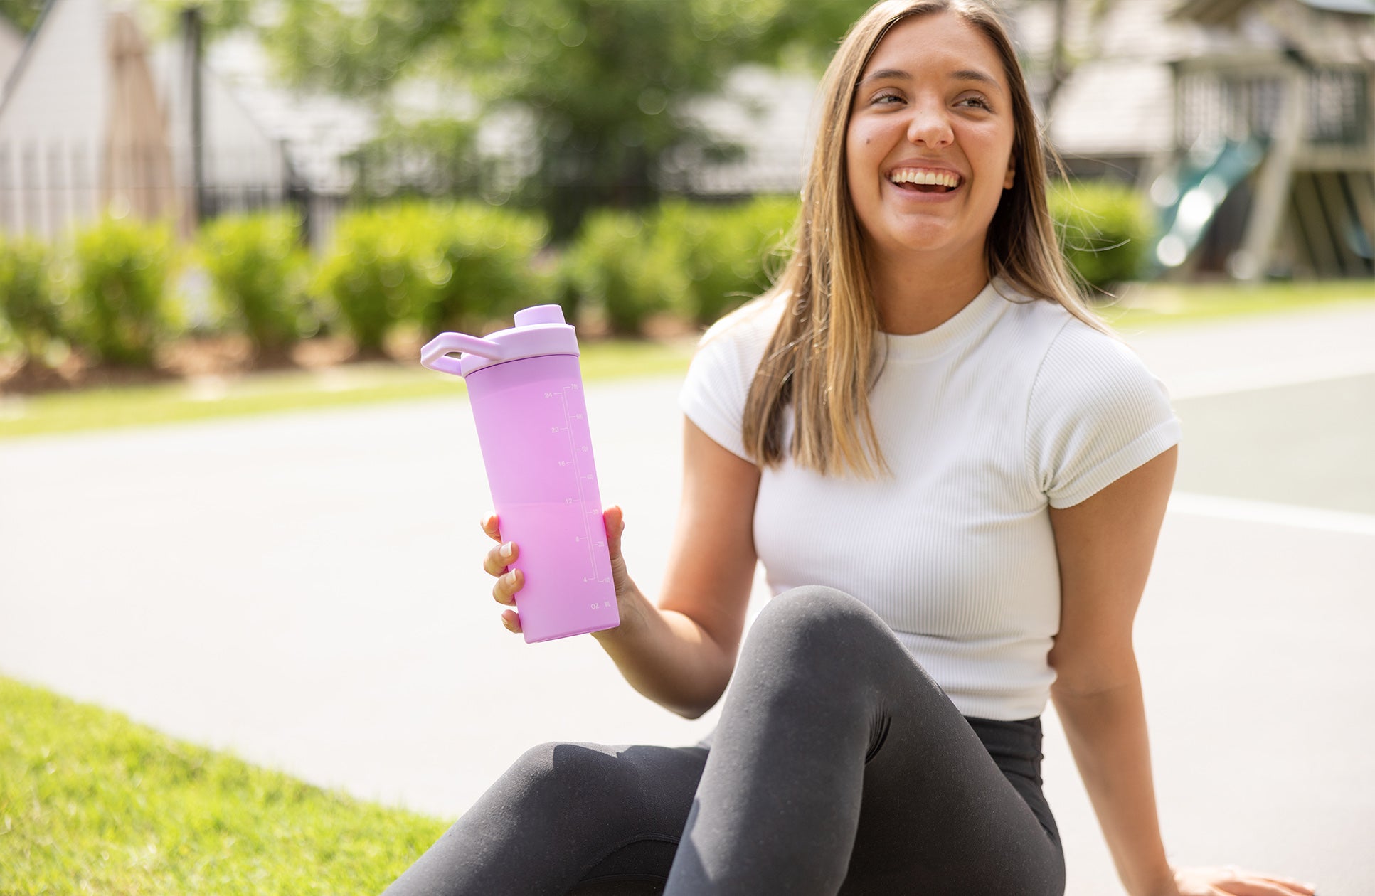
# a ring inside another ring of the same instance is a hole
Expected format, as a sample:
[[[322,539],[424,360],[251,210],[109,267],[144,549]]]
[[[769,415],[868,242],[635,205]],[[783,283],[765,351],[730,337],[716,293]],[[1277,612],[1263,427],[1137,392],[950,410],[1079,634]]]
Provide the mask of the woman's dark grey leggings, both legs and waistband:
[[[386,893],[1063,896],[1040,760],[1040,719],[961,716],[873,610],[795,588],[705,741],[542,743]]]

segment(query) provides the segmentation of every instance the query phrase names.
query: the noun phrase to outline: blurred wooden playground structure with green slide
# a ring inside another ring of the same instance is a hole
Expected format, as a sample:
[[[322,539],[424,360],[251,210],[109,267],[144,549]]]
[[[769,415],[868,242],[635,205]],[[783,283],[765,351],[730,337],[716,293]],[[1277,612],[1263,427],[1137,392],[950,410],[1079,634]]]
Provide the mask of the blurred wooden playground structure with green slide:
[[[1185,0],[1172,19],[1247,48],[1170,63],[1156,273],[1375,276],[1375,0]]]

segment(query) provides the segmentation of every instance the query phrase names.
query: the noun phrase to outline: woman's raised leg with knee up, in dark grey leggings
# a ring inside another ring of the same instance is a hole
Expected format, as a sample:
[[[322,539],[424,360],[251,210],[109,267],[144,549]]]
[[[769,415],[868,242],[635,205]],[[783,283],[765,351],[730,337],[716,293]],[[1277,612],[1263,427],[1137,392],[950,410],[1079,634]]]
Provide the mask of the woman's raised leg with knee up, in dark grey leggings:
[[[1059,842],[859,601],[755,620],[666,896],[1062,896]]]

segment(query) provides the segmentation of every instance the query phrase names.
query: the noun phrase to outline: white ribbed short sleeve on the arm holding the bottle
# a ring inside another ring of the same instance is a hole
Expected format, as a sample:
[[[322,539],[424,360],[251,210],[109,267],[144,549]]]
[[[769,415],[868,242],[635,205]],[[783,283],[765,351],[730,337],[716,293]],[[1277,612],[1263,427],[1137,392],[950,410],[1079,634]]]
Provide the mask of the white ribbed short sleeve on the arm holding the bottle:
[[[752,302],[718,320],[697,346],[678,407],[697,429],[730,453],[754,463],[741,436],[745,400],[777,315]]]

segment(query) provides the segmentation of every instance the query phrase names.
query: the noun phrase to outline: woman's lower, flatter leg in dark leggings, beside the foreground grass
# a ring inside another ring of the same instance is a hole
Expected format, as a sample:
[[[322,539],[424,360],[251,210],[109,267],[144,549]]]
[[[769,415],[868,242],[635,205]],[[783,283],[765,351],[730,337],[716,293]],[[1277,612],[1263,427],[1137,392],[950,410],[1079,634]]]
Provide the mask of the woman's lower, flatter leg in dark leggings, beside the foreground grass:
[[[705,761],[700,746],[542,743],[386,896],[657,893]]]

